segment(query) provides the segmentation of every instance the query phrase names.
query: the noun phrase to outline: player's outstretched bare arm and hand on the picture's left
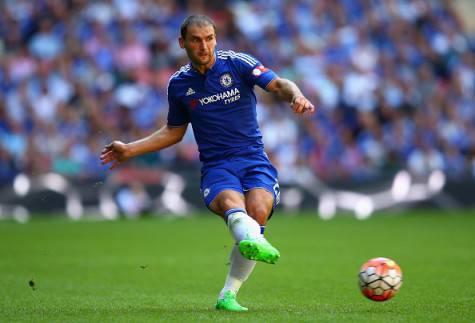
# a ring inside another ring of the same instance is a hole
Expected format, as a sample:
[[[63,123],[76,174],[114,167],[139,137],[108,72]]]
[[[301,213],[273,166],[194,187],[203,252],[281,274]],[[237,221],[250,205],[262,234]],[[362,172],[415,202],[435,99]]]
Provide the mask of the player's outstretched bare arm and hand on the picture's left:
[[[187,125],[185,124],[181,127],[166,125],[150,136],[127,144],[115,140],[102,150],[100,156],[102,164],[111,164],[109,169],[114,169],[132,157],[172,146],[181,141],[185,135]]]

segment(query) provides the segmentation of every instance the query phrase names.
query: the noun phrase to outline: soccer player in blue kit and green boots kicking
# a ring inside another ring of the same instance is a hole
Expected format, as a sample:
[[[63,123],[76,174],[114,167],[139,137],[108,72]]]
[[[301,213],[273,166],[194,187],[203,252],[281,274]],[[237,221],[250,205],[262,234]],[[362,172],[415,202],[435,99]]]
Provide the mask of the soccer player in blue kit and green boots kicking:
[[[247,311],[236,300],[239,288],[256,261],[274,264],[280,257],[263,235],[279,202],[279,184],[264,152],[253,88],[258,85],[276,94],[297,114],[312,113],[315,107],[295,83],[279,78],[254,57],[216,50],[216,27],[209,17],[187,17],[180,34],[180,47],[190,63],[168,83],[167,125],[131,143],[113,141],[100,159],[113,169],[129,158],[178,143],[192,124],[202,162],[204,202],[226,221],[236,241],[216,308]]]

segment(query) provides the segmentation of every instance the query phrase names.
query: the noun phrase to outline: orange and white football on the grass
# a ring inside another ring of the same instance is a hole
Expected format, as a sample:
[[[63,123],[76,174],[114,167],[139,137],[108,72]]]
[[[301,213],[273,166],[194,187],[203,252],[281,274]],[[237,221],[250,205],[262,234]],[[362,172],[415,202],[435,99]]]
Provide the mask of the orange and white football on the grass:
[[[392,298],[402,285],[402,271],[395,261],[373,258],[361,266],[360,289],[370,300],[382,302]]]

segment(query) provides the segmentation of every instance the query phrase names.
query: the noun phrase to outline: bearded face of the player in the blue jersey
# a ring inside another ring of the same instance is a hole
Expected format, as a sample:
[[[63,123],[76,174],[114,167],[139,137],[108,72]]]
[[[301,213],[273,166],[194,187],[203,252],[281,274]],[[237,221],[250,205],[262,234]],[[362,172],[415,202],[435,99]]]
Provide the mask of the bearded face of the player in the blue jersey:
[[[214,63],[216,35],[213,26],[188,26],[186,37],[180,37],[179,41],[194,65],[209,67]]]

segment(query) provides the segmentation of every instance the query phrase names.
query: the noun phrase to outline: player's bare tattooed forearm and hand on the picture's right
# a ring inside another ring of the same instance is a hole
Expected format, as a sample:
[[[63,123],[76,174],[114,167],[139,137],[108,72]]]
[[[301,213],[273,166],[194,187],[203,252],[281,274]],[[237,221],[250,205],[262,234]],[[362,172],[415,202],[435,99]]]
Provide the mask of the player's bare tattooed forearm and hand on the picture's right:
[[[290,80],[276,77],[266,86],[266,90],[289,102],[294,113],[315,112],[315,106],[302,94],[299,87]]]

